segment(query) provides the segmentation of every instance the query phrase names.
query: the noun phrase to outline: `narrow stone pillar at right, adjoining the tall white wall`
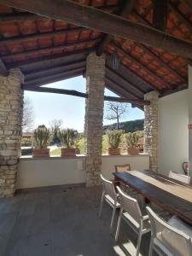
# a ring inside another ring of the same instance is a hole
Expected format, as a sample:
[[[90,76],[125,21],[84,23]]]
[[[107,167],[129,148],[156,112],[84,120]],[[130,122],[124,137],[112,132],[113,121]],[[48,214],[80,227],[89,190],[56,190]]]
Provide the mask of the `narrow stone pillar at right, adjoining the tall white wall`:
[[[144,153],[149,154],[149,168],[154,172],[158,171],[158,98],[159,93],[155,90],[144,96],[150,102],[144,106]]]

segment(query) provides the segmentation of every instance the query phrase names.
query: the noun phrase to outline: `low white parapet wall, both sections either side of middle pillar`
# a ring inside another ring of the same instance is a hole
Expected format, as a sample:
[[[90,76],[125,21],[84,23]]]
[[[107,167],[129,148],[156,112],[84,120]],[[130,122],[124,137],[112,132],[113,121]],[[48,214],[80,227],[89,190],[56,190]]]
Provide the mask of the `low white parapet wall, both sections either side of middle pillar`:
[[[32,159],[20,158],[17,189],[85,183],[84,157]],[[130,164],[131,170],[148,169],[148,155],[102,156],[102,174],[112,178],[114,165]]]

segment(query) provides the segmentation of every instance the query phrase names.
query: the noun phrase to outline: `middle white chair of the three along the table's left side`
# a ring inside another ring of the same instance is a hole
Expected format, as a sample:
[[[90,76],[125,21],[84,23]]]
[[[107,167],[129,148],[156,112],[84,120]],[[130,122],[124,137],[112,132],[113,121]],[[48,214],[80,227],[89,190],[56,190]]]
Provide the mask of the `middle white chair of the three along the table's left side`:
[[[146,234],[150,231],[150,223],[149,223],[148,215],[143,216],[136,199],[132,198],[129,195],[126,195],[119,187],[117,187],[117,190],[119,192],[121,207],[120,207],[119,221],[118,221],[116,235],[115,235],[115,241],[118,241],[121,219],[124,218],[125,222],[129,224],[131,228],[135,230],[138,234],[137,253],[136,253],[136,255],[138,255],[142,236],[143,234]]]

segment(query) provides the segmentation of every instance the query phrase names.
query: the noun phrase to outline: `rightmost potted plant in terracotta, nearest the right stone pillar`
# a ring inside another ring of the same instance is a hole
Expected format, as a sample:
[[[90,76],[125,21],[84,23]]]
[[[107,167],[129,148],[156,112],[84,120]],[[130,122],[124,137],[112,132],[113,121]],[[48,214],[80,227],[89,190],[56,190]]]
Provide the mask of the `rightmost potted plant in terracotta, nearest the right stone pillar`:
[[[139,137],[136,132],[129,132],[126,134],[126,144],[128,154],[138,154],[139,150],[137,148]]]

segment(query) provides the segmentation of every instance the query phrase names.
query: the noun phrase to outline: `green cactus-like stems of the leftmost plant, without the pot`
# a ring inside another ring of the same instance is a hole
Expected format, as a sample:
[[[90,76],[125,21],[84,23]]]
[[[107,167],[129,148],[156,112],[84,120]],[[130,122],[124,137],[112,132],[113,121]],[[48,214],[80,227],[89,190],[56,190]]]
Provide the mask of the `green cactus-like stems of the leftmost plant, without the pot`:
[[[38,125],[38,128],[34,131],[33,137],[35,148],[47,148],[49,144],[50,131],[44,125]]]

